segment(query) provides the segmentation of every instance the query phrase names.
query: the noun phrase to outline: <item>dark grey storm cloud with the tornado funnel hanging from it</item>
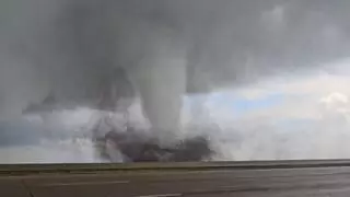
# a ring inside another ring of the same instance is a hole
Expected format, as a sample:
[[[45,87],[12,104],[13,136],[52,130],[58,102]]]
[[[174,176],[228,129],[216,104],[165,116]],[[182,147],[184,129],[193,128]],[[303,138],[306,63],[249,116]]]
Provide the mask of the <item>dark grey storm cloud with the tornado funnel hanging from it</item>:
[[[298,74],[346,57],[350,46],[347,2],[2,3],[1,119],[50,92],[61,103],[90,105],[101,79],[124,67],[164,143],[180,129],[179,95]]]

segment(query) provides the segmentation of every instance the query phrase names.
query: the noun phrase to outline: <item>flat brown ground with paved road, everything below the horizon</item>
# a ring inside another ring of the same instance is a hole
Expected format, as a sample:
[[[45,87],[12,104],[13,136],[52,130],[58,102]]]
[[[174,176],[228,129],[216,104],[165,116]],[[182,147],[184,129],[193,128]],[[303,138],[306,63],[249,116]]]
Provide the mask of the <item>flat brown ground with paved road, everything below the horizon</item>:
[[[84,169],[83,164],[81,166],[84,170],[77,170],[79,169],[77,166],[35,165],[31,169],[0,165],[0,196],[350,196],[350,162],[348,161],[108,165],[96,171]],[[52,171],[55,167],[56,172]]]

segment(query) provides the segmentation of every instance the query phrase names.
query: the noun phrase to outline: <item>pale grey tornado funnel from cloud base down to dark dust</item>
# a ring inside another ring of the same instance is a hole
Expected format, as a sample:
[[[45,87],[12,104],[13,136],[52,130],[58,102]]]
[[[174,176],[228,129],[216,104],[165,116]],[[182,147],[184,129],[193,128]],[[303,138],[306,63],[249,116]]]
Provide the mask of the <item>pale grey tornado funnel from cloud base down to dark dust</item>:
[[[150,65],[143,65],[135,73],[144,115],[159,142],[162,146],[173,144],[180,130],[182,99],[186,93],[186,59],[163,56],[147,63]]]

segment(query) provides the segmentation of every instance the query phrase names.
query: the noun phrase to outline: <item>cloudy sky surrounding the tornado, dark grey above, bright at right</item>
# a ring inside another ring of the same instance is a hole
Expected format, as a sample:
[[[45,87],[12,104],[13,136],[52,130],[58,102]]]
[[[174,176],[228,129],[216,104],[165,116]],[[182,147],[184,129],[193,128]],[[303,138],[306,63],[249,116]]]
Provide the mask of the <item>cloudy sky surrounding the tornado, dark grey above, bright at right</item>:
[[[185,99],[185,106],[202,102],[205,109],[194,115],[185,107],[184,123],[218,126],[217,141],[235,139],[217,147],[218,158],[350,157],[349,1],[110,2],[1,2],[0,119],[19,116],[51,90],[81,96],[114,63],[138,67],[136,60],[158,60],[159,48],[172,46],[164,53],[186,60],[189,89],[213,90]],[[139,105],[133,109],[140,119]],[[86,109],[55,115],[65,129],[90,117]],[[5,125],[2,141],[26,142],[2,146],[1,162],[95,161],[89,141],[43,141],[38,129]]]

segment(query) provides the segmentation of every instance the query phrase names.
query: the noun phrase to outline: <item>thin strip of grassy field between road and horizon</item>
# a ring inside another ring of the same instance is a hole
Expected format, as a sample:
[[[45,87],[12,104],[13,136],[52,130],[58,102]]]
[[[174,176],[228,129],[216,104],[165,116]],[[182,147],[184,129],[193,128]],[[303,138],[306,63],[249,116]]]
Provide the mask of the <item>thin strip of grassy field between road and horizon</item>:
[[[215,171],[267,170],[350,166],[350,160],[256,161],[256,162],[192,162],[192,163],[84,163],[84,164],[2,164],[0,175],[45,173],[118,173],[125,171]]]

